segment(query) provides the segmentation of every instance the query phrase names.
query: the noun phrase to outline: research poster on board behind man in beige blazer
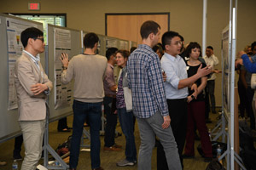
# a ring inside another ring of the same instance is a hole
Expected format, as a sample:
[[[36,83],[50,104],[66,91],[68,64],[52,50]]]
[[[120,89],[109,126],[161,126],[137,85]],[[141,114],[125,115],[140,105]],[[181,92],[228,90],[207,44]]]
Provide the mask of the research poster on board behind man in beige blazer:
[[[7,43],[8,43],[8,66],[9,66],[9,99],[8,110],[18,108],[17,95],[15,89],[15,63],[23,51],[23,45],[20,41],[20,33],[28,27],[38,27],[38,25],[24,20],[6,19]]]

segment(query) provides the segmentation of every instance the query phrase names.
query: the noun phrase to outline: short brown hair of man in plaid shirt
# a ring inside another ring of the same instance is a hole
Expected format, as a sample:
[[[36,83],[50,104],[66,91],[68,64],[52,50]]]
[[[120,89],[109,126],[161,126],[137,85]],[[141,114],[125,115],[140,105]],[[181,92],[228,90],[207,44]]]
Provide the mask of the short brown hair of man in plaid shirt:
[[[147,39],[149,34],[154,33],[154,35],[157,34],[158,28],[160,29],[159,24],[154,22],[153,20],[148,20],[143,23],[143,26],[141,26],[141,36],[143,39]]]

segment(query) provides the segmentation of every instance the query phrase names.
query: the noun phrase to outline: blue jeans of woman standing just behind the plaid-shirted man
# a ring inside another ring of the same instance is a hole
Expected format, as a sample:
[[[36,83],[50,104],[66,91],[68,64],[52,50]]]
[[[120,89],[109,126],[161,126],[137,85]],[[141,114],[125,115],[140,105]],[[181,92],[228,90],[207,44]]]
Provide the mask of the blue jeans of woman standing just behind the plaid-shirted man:
[[[133,113],[126,112],[126,108],[118,109],[119,122],[125,134],[125,156],[128,161],[137,161],[137,150],[133,134]]]

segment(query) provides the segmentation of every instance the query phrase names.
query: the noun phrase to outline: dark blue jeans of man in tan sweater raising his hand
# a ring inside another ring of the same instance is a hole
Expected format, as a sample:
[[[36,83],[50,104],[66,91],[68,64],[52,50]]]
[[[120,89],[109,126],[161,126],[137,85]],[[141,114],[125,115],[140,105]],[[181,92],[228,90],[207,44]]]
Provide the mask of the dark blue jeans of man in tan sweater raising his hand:
[[[70,168],[76,168],[79,162],[79,150],[81,136],[84,129],[84,121],[88,119],[90,125],[90,160],[91,168],[101,166],[100,128],[102,116],[102,102],[84,103],[73,100],[73,134],[70,150]]]

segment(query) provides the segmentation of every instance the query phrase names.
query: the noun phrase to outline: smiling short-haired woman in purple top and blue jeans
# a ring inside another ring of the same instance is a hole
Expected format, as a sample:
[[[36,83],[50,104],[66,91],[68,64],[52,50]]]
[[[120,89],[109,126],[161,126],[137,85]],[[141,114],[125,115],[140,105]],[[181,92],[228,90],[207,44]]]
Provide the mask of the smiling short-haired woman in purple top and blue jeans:
[[[116,94],[116,107],[119,122],[125,134],[125,159],[116,163],[119,167],[133,166],[137,163],[137,150],[134,139],[133,113],[131,89],[128,88],[126,62],[130,53],[126,50],[119,50],[116,53],[117,65],[122,68],[119,73],[118,90]]]

